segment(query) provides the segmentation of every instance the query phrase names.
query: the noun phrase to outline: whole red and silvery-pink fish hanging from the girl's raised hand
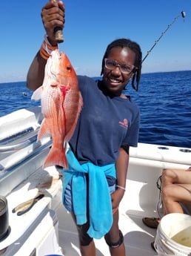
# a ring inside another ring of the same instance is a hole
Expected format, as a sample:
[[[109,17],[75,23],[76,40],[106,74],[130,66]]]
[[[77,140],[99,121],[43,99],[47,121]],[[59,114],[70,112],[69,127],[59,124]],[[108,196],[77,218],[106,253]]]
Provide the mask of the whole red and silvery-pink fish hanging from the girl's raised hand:
[[[76,72],[64,52],[53,50],[47,59],[43,84],[33,92],[31,99],[41,99],[44,115],[37,140],[47,135],[53,140],[43,168],[51,165],[68,168],[64,142],[73,136],[83,99]]]

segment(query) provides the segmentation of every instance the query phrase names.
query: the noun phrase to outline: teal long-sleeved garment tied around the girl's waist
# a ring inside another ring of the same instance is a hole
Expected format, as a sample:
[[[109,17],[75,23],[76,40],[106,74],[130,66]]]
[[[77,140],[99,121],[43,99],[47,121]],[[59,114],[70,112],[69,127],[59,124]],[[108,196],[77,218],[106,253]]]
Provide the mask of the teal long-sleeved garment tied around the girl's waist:
[[[73,209],[78,225],[87,222],[87,182],[85,173],[89,177],[89,213],[90,237],[100,239],[110,231],[113,224],[113,212],[110,191],[106,175],[115,177],[115,164],[96,166],[93,163],[80,165],[71,150],[67,151],[68,170],[64,169],[63,194],[67,184],[72,180]]]

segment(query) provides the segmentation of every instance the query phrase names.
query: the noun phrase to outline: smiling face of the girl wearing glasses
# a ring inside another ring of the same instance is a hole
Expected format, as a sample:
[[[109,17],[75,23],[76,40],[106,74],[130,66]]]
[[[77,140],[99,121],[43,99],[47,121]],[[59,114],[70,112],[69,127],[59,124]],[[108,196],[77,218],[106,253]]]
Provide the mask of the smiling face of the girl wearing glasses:
[[[113,95],[121,96],[121,91],[123,91],[132,78],[133,72],[135,72],[134,64],[135,53],[133,50],[128,47],[113,47],[107,56],[107,62],[105,62],[104,66],[103,81],[105,88]],[[128,70],[131,72],[128,72]]]

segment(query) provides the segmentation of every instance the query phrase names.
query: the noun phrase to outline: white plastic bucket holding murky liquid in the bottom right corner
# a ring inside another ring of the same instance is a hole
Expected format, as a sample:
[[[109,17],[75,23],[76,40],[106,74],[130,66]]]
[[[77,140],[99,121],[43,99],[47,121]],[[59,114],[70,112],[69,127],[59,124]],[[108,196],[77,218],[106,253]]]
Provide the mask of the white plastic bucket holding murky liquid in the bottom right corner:
[[[155,237],[159,256],[191,256],[191,216],[167,214],[162,217]]]

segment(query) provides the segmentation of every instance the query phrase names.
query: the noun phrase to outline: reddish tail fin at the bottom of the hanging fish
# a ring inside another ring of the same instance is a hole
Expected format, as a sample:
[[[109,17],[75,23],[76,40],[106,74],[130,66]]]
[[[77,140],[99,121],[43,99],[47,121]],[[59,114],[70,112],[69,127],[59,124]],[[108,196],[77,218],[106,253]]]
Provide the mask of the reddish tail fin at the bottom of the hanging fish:
[[[50,148],[47,158],[44,161],[43,168],[46,168],[48,166],[53,166],[53,165],[59,165],[68,169],[67,157],[66,157],[64,148],[62,150],[54,146]]]

